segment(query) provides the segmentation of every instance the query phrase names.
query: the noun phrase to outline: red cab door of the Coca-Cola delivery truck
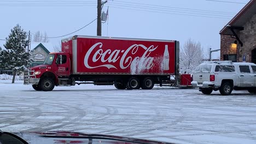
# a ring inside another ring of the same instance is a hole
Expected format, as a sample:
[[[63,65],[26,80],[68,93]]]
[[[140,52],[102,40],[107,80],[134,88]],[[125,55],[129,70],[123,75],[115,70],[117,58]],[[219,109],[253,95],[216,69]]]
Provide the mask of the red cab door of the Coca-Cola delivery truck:
[[[70,61],[69,55],[61,54],[56,58],[57,75],[69,76],[70,75]]]

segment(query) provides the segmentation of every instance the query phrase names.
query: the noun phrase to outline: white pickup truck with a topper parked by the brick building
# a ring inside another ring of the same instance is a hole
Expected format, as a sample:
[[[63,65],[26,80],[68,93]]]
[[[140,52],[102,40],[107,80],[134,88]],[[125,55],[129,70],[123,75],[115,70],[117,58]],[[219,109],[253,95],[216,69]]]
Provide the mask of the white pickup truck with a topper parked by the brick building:
[[[256,64],[231,61],[204,62],[193,72],[193,87],[199,87],[203,94],[218,91],[222,95],[232,90],[247,89],[256,93]]]

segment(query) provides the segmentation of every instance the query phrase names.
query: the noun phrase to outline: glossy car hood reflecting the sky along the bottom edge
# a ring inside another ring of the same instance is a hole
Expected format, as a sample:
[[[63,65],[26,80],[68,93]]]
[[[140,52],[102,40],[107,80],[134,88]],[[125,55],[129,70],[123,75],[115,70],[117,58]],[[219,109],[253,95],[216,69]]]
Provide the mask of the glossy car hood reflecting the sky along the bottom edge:
[[[171,144],[168,142],[133,139],[129,137],[83,134],[69,131],[52,131],[52,132],[22,132],[16,133],[28,143],[91,143],[91,144]]]

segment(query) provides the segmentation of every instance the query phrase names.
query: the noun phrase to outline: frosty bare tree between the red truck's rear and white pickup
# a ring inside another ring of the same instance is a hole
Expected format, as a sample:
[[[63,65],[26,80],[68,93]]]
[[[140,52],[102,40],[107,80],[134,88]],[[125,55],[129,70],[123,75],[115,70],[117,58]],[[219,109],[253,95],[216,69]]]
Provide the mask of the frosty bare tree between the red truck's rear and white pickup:
[[[187,73],[191,73],[191,71],[200,63],[202,63],[203,49],[201,44],[196,43],[194,40],[190,38],[185,42],[184,46],[181,49],[180,53],[180,67],[181,73],[187,71]]]

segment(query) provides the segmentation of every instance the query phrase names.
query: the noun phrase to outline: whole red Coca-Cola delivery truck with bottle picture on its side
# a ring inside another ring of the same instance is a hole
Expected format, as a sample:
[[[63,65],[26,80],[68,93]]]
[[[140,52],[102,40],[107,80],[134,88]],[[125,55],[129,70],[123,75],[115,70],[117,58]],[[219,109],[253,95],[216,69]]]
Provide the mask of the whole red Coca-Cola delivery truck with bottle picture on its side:
[[[62,40],[61,52],[51,52],[42,65],[24,72],[24,84],[37,91],[84,83],[118,89],[152,89],[178,85],[179,42],[75,35]],[[176,79],[171,79],[176,75]]]

